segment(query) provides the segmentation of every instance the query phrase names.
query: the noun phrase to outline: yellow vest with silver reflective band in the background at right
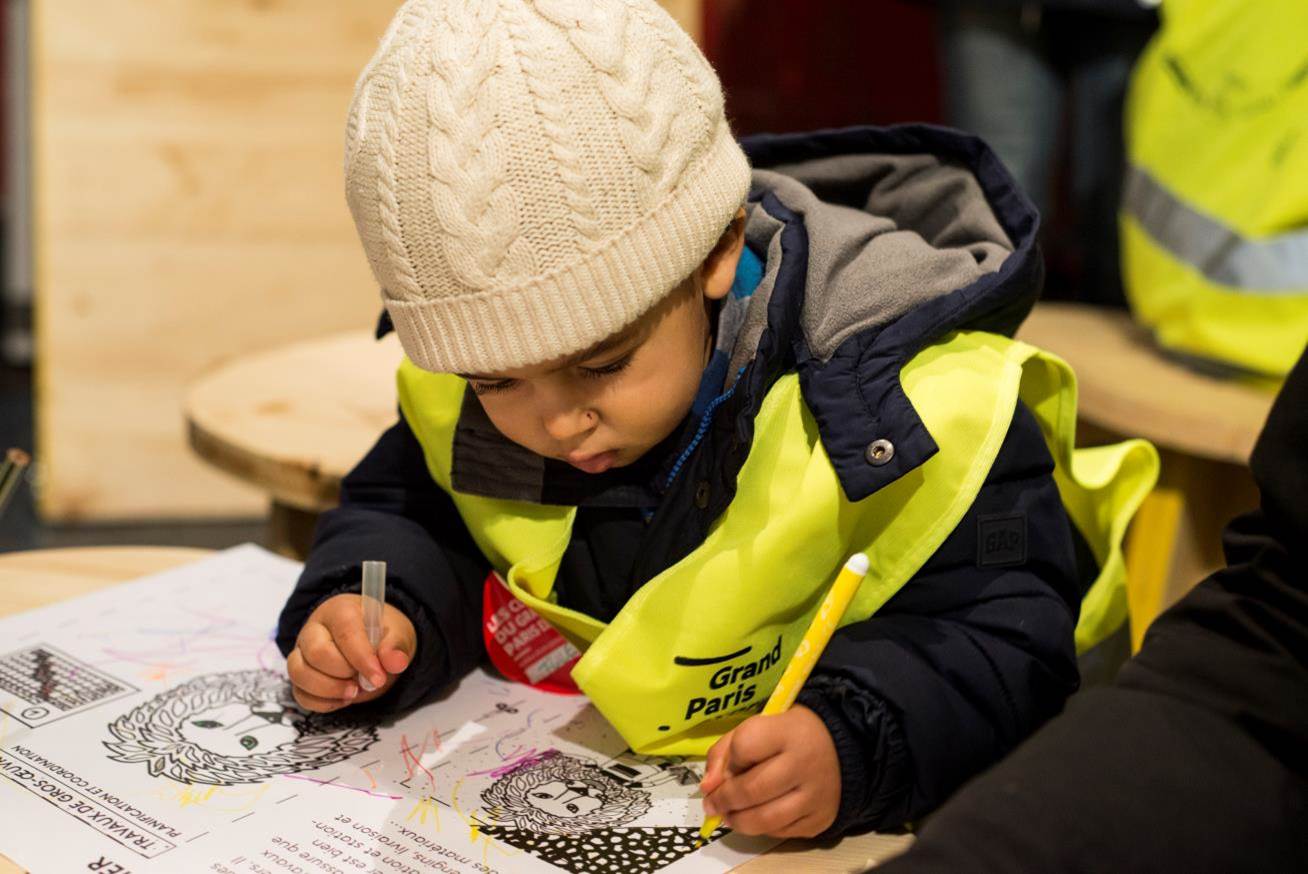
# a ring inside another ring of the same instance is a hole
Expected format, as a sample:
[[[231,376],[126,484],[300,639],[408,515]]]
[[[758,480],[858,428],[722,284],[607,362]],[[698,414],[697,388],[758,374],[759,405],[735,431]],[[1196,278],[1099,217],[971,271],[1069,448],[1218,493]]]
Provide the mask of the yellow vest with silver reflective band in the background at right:
[[[1164,347],[1282,378],[1308,343],[1308,3],[1162,12],[1126,105],[1126,294]]]

